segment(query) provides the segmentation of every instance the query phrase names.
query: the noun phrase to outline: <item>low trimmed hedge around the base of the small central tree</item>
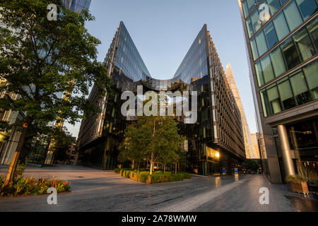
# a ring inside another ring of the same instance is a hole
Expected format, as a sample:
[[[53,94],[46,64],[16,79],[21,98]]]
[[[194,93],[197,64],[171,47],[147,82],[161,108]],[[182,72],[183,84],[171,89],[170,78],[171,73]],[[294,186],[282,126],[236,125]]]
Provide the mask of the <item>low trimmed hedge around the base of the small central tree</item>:
[[[163,172],[159,170],[153,172],[153,174],[151,175],[149,174],[149,172],[136,172],[136,170],[132,169],[114,169],[114,173],[119,174],[121,177],[126,177],[146,184],[177,182],[183,181],[184,179],[192,179],[192,174],[189,174],[187,172],[179,172],[178,174],[166,172],[165,174],[163,174]]]

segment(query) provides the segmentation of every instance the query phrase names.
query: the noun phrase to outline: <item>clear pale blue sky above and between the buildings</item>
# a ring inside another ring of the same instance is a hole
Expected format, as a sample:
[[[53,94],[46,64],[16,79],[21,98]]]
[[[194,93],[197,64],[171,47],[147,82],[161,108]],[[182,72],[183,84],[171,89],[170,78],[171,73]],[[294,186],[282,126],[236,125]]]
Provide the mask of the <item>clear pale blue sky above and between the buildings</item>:
[[[252,133],[257,131],[249,82],[245,40],[237,0],[92,0],[95,21],[87,23],[98,37],[98,60],[103,61],[122,20],[151,76],[172,78],[204,23],[225,69],[232,66]],[[65,124],[73,136],[79,124]]]

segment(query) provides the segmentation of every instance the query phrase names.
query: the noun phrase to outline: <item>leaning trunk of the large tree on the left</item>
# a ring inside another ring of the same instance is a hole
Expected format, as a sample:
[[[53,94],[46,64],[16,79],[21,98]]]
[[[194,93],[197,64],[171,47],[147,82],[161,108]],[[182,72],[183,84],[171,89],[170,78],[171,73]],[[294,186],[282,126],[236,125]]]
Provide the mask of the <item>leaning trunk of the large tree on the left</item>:
[[[25,121],[25,123],[23,124],[23,129],[22,129],[22,133],[21,133],[20,140],[18,143],[18,147],[16,148],[16,152],[13,155],[12,162],[11,162],[10,167],[8,169],[8,174],[6,174],[6,181],[4,182],[4,187],[8,186],[8,184],[13,182],[14,176],[16,174],[16,167],[18,166],[19,155],[22,151],[25,137],[26,137],[26,134],[28,132],[28,126],[30,124],[29,121],[30,121],[30,119],[27,119]]]

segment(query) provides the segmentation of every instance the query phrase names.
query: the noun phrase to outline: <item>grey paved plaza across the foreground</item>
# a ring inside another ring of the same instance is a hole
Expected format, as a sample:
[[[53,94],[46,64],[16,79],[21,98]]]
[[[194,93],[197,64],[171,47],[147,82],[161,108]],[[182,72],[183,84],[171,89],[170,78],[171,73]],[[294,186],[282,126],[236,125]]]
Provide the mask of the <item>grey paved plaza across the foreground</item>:
[[[0,166],[0,174],[7,167]],[[71,192],[58,194],[57,205],[47,195],[0,198],[0,211],[318,211],[317,200],[271,184],[262,175],[203,177],[182,182],[143,184],[113,171],[58,165],[25,169],[26,176],[64,179]],[[269,205],[259,203],[259,189],[269,189]]]

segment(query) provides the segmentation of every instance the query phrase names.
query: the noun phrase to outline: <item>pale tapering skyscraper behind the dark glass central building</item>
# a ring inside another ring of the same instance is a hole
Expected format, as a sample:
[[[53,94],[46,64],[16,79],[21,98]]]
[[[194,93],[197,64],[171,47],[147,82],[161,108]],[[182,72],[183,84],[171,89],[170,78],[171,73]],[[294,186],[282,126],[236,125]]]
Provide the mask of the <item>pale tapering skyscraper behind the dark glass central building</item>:
[[[249,159],[259,158],[259,148],[258,148],[258,145],[255,145],[254,140],[251,137],[252,134],[249,131],[249,124],[247,123],[247,118],[243,108],[240,93],[237,90],[237,85],[235,83],[235,78],[234,78],[232,67],[230,64],[226,66],[225,71],[226,71],[226,78],[228,78],[228,83],[234,95],[235,101],[237,103],[237,107],[240,109],[246,158],[249,158]]]

